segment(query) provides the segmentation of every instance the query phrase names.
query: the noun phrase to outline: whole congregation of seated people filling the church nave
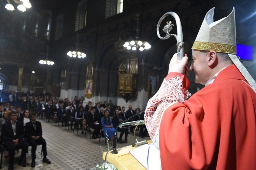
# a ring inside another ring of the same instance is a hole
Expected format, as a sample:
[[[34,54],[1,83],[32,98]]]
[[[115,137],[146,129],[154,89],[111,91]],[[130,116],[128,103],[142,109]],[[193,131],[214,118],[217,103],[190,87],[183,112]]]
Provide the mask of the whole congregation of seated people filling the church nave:
[[[10,91],[9,96],[13,100],[8,100],[9,98],[4,98],[1,95],[2,102],[0,103],[1,143],[9,151],[9,169],[13,169],[14,150],[17,146],[22,149],[18,165],[26,166],[24,161],[26,151],[28,146],[32,146],[31,167],[35,167],[34,159],[37,145],[42,145],[42,152],[44,154],[43,162],[47,164],[51,163],[46,158],[46,142],[42,138],[42,127],[41,123],[36,121],[37,117],[40,119],[45,118],[47,122],[51,120],[52,123],[58,123],[58,125],[61,123],[61,126],[65,126],[65,128],[66,126],[70,126],[71,130],[75,128],[81,129],[81,134],[92,132],[91,139],[104,137],[105,140],[110,140],[111,145],[113,145],[113,136],[117,125],[140,112],[140,108],[133,110],[131,105],[128,106],[127,110],[124,106],[122,108],[120,106],[114,106],[111,100],[108,104],[106,101],[104,103],[96,102],[95,106],[89,101],[83,107],[83,100],[77,99],[76,97],[70,102],[68,98],[59,99],[59,97],[48,97],[43,94],[41,96],[35,96],[34,93],[31,95],[29,91],[18,97],[16,92]],[[129,121],[134,120],[144,120],[144,112]],[[17,127],[16,129],[13,127],[13,131],[8,131],[11,134],[12,140],[8,135],[6,137],[6,130],[11,129],[7,124],[10,124],[10,127],[16,124]],[[23,128],[18,128],[19,126]],[[145,125],[139,125],[139,127],[140,137],[144,138],[144,136],[148,136]],[[23,131],[17,132],[17,129],[22,129]],[[143,131],[143,129],[145,130]],[[125,143],[128,142],[128,134],[134,133],[134,127],[130,127],[130,132],[128,128],[118,128],[117,131],[120,132],[117,142]],[[125,135],[124,140],[122,140],[123,135]],[[8,157],[8,152],[5,152],[5,157]]]

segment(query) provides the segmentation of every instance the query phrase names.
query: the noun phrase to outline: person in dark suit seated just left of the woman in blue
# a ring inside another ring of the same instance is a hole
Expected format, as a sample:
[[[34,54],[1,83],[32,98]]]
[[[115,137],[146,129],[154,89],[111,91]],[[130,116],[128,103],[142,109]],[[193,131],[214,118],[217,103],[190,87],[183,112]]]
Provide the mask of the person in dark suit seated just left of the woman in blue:
[[[90,105],[91,106],[91,105]],[[91,138],[96,139],[99,138],[100,134],[100,124],[98,121],[94,121],[95,107],[89,107],[89,111],[86,112],[86,122],[88,126],[94,129],[93,135]]]

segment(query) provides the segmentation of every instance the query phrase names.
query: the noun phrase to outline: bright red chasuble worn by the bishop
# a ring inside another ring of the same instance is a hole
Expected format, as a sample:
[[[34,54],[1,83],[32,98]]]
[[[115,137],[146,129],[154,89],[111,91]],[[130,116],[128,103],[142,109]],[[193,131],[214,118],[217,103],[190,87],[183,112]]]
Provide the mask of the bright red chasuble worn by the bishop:
[[[166,80],[176,75],[185,87],[181,74],[169,73]],[[255,110],[253,89],[236,66],[225,68],[212,84],[163,113],[162,169],[256,169]]]

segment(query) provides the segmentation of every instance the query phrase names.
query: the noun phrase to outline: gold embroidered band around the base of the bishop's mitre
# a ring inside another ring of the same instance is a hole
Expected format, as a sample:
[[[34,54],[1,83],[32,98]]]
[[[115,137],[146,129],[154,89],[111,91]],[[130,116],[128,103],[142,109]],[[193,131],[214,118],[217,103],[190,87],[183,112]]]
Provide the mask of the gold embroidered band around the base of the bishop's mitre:
[[[216,51],[222,53],[229,53],[237,55],[237,47],[229,44],[219,44],[219,43],[209,43],[209,42],[200,42],[195,41],[192,46],[194,50],[204,50],[204,51]]]

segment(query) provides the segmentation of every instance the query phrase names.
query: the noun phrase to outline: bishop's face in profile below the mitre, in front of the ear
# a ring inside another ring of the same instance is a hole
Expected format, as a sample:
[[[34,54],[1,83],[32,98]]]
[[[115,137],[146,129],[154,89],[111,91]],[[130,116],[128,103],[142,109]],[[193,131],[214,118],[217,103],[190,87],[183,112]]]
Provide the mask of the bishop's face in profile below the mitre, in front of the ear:
[[[209,53],[207,53],[209,54]],[[205,85],[209,80],[208,57],[206,53],[202,53],[198,50],[192,50],[192,64],[190,66],[190,71],[195,72],[195,83]]]

